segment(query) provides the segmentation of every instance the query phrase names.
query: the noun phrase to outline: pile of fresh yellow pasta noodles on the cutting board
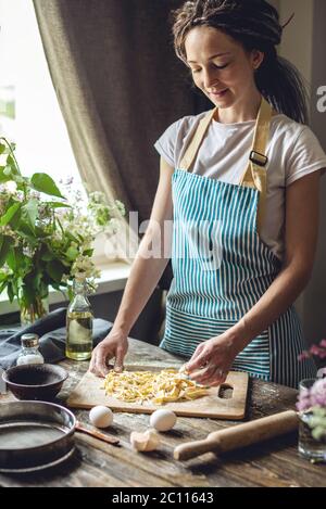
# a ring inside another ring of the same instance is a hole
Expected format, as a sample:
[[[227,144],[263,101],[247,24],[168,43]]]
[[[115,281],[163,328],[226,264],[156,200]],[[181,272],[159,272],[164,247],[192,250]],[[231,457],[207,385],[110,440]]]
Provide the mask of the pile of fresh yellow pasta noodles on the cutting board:
[[[111,370],[104,380],[105,394],[127,403],[164,403],[197,399],[205,396],[205,386],[189,380],[185,371],[163,369],[153,371]]]

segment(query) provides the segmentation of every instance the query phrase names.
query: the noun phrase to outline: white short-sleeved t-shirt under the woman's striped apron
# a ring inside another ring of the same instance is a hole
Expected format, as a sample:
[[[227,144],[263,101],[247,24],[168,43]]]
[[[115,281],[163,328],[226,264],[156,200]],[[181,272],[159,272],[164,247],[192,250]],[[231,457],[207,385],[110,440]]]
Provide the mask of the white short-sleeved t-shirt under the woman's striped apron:
[[[208,112],[186,116],[172,124],[154,143],[159,154],[173,168],[188,148],[199,122]],[[197,155],[192,173],[223,182],[239,184],[248,166],[255,120],[221,124],[215,119],[209,126]],[[267,144],[266,215],[261,240],[279,258],[285,253],[286,188],[313,171],[326,168],[326,155],[312,130],[286,115],[272,118]],[[184,169],[184,168],[179,168]]]

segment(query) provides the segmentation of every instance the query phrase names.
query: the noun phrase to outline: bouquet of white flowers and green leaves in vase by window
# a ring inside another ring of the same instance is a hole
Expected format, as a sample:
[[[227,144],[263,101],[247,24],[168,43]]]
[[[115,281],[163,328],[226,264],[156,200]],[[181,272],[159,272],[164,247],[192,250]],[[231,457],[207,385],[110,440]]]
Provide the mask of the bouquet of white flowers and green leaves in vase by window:
[[[47,314],[50,288],[71,297],[77,278],[95,291],[92,243],[125,209],[101,192],[83,194],[72,179],[60,187],[45,173],[24,177],[14,151],[0,138],[0,294],[17,301],[26,325]]]

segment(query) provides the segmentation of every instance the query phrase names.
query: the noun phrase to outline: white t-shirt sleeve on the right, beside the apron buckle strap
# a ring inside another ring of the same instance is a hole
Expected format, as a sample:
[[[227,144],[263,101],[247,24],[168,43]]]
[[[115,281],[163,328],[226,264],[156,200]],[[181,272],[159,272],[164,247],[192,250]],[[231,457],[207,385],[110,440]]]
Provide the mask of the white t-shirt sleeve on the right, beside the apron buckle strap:
[[[313,131],[304,126],[287,156],[286,186],[324,168],[326,154]]]

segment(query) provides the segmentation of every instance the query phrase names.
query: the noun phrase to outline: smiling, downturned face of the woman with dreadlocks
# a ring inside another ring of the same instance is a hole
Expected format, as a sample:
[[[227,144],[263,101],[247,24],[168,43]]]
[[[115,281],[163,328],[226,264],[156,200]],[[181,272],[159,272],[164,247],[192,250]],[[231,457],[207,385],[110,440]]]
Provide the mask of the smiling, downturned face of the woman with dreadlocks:
[[[185,48],[195,85],[216,106],[231,107],[256,93],[254,71],[263,61],[260,51],[248,53],[238,41],[208,26],[192,28]]]

